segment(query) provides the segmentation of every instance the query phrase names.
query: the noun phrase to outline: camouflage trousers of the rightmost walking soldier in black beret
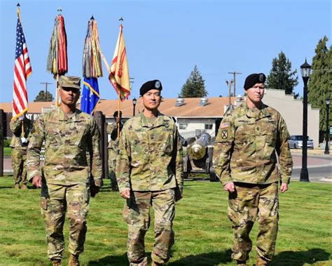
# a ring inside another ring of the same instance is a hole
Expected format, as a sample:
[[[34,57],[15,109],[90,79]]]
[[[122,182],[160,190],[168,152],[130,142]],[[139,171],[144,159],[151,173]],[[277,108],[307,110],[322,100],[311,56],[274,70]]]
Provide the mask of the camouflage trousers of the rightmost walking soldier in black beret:
[[[228,218],[233,226],[232,258],[248,260],[252,248],[249,237],[258,216],[256,250],[265,260],[272,260],[278,232],[278,184],[251,185],[235,183],[236,191],[229,194]]]

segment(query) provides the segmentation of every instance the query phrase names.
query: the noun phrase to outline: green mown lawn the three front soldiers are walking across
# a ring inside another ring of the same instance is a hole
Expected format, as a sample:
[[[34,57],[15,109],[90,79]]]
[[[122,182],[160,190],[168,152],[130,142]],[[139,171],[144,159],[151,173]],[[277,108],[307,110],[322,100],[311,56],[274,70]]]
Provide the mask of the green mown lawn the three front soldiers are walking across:
[[[90,201],[88,234],[81,265],[127,265],[124,201],[111,192],[109,180]],[[39,209],[39,189],[15,190],[11,176],[0,178],[0,265],[50,265]],[[227,218],[227,194],[219,182],[186,181],[177,204],[175,244],[168,265],[235,265],[230,260],[232,231]],[[279,234],[270,265],[332,265],[332,186],[292,182],[280,196]],[[68,243],[68,222],[65,225]],[[257,227],[251,232],[256,239]],[[153,225],[146,234],[151,253]],[[68,253],[63,265],[67,265]],[[248,265],[256,261],[251,251]]]

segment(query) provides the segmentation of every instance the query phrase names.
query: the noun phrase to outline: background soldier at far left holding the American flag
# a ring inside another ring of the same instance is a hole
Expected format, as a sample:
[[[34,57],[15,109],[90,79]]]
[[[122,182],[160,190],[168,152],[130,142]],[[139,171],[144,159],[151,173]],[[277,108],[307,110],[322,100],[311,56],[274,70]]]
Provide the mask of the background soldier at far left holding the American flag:
[[[24,113],[22,117],[14,118],[10,123],[13,138],[11,139],[11,164],[15,189],[27,188],[27,145],[29,144],[29,133],[32,128],[32,121]]]

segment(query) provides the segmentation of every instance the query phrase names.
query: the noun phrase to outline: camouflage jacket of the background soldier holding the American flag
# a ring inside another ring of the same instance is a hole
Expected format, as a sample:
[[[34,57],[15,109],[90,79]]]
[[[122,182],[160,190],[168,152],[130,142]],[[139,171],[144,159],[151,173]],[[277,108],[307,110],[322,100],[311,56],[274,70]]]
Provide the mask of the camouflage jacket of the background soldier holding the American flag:
[[[21,138],[27,138],[29,141],[29,133],[32,128],[33,121],[25,117],[24,119],[14,119],[9,126],[13,132],[13,138],[11,139],[12,148],[27,149],[28,142],[25,144],[21,142]],[[22,132],[23,129],[23,132]]]

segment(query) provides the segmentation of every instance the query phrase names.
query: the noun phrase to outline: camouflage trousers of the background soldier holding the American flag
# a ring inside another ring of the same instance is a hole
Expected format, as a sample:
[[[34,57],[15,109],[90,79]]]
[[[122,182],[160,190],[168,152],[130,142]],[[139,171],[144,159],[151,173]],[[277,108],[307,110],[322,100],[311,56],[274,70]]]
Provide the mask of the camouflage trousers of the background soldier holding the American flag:
[[[27,184],[27,149],[11,149],[11,165],[15,184]]]

